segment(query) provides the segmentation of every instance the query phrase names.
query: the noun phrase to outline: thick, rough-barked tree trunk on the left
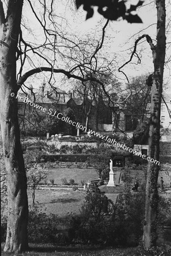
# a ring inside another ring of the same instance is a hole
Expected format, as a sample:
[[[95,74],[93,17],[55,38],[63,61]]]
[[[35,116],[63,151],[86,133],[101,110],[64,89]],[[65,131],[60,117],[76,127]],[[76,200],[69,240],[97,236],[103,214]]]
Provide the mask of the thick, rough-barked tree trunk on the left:
[[[1,132],[5,167],[7,171],[8,222],[5,251],[24,251],[28,247],[27,222],[28,199],[27,178],[24,169],[18,103],[11,93],[16,88],[16,47],[20,31],[23,1],[8,1],[6,18],[1,8]]]

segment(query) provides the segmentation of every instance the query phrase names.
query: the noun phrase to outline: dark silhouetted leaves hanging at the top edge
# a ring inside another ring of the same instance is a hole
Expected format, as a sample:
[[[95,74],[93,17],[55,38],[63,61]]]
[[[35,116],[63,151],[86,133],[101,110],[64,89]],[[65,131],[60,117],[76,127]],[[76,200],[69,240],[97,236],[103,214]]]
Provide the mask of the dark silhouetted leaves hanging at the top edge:
[[[140,0],[136,5],[130,5],[130,8],[126,9],[125,0],[75,0],[77,9],[83,5],[83,9],[87,11],[86,19],[92,18],[94,14],[93,6],[98,6],[97,11],[104,18],[117,20],[122,17],[129,23],[143,23],[137,14],[131,14],[132,11],[136,11],[137,7],[142,6],[143,2]]]

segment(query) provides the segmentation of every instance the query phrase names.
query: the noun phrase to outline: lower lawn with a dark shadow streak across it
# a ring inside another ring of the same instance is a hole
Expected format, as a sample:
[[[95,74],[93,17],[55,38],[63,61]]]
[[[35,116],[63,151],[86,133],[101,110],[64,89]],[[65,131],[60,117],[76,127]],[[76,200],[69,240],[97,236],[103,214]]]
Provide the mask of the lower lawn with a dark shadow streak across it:
[[[72,191],[60,189],[57,191],[36,190],[35,202],[39,209],[46,213],[54,213],[59,217],[67,216],[67,213],[79,214],[79,209],[84,200],[84,191]],[[28,204],[32,205],[32,191],[28,189]]]

